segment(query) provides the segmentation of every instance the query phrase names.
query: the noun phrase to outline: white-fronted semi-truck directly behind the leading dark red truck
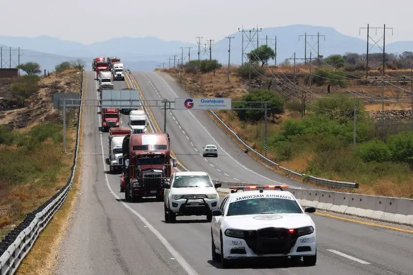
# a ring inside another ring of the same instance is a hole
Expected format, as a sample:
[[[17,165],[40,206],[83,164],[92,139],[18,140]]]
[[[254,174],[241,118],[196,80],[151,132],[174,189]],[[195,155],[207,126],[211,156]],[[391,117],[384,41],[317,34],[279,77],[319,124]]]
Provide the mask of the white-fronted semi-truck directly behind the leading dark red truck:
[[[122,143],[123,138],[128,134],[131,134],[131,129],[128,127],[109,128],[109,170],[111,173],[122,169]]]

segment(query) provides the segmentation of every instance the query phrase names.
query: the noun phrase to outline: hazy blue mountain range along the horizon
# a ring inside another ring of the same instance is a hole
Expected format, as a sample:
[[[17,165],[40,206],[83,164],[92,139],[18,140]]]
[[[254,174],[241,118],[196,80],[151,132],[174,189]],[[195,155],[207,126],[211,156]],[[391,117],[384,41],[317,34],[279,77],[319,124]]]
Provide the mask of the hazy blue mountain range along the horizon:
[[[320,55],[344,54],[345,52],[364,53],[366,42],[361,38],[344,35],[330,27],[291,25],[276,28],[262,29],[261,32],[251,32],[251,42],[249,42],[249,31],[244,32],[243,48],[244,52],[249,52],[257,47],[257,34],[259,45],[266,43],[275,47],[275,36],[277,40],[277,63],[282,63],[286,58],[291,58],[296,52],[297,58],[304,58],[305,43],[304,36],[307,33],[307,58],[316,57],[317,37],[310,36],[320,34]],[[231,63],[241,64],[242,32],[229,34],[231,39]],[[208,58],[209,46],[206,41],[202,41],[201,58]],[[382,43],[379,43],[380,47]],[[5,45],[5,46],[1,46]],[[65,41],[49,36],[28,37],[8,37],[0,36],[0,47],[2,47],[2,65],[9,67],[9,48],[12,47],[12,67],[17,64],[17,47],[20,47],[20,63],[34,61],[41,65],[42,69],[52,71],[54,66],[75,58],[80,58],[86,63],[86,70],[91,69],[91,62],[97,56],[118,56],[124,62],[125,67],[133,71],[152,71],[156,65],[165,62],[169,65],[168,58],[177,55],[176,61],[181,56],[180,47],[192,47],[191,59],[198,58],[198,45],[181,41],[163,41],[156,37],[120,37],[103,42],[96,42],[85,45],[79,42]],[[371,45],[373,47],[373,45]],[[204,49],[206,48],[206,49]],[[413,51],[413,41],[395,42],[386,45],[386,52],[401,53],[403,51]],[[373,47],[370,52],[380,52],[381,49]],[[228,62],[228,39],[222,39],[212,45],[212,58],[218,59],[221,63]],[[188,49],[184,49],[184,60],[188,61]],[[244,58],[245,61],[245,58]],[[173,60],[172,63],[173,64]]]

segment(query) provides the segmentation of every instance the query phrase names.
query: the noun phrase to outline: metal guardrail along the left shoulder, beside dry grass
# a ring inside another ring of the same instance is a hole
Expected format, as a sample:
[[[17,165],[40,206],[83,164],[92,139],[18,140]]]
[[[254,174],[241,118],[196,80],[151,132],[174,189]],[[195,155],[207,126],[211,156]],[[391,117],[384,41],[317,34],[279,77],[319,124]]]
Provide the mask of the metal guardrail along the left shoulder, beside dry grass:
[[[84,75],[82,72],[81,97],[83,98]],[[80,117],[78,116],[78,128],[75,145],[75,154],[71,168],[71,176],[66,185],[47,200],[43,205],[26,215],[23,222],[8,233],[0,242],[0,275],[13,275],[17,271],[21,261],[29,253],[40,232],[48,225],[54,213],[59,210],[65,201],[72,186],[72,181],[77,167],[77,156],[79,152]]]

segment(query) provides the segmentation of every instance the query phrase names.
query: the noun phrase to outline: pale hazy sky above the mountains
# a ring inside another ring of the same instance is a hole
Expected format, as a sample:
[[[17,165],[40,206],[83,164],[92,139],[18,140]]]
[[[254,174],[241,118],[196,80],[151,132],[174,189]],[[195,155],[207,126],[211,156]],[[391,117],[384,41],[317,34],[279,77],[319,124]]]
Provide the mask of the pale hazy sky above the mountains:
[[[1,5],[0,36],[49,35],[85,44],[118,36],[194,42],[197,35],[217,41],[242,24],[320,25],[359,36],[359,27],[369,23],[393,27],[390,43],[413,40],[412,11],[410,0],[10,0]]]

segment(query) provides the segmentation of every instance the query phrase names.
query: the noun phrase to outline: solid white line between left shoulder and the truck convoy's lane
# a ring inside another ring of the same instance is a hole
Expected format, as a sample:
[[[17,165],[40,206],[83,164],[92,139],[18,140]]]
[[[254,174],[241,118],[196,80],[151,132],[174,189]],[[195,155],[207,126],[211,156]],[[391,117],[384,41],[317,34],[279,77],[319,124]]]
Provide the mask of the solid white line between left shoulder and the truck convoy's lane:
[[[96,85],[96,90],[98,89],[98,84],[95,81],[95,85]],[[96,91],[96,95],[97,98],[99,98],[99,94]],[[99,107],[97,107],[99,110]],[[102,121],[99,117],[98,114],[98,122],[99,122],[99,126],[102,127]],[[102,139],[102,134],[100,134],[100,138],[101,138],[101,147],[102,147],[102,163],[103,163],[103,171],[105,171],[106,169],[106,163],[104,160],[104,150],[103,150],[103,139]],[[106,186],[109,189],[110,193],[113,194],[113,196],[117,199],[120,199],[120,197],[118,196],[118,194],[116,194],[112,187],[109,184],[109,179],[107,178],[107,174],[104,174],[105,177],[105,181],[106,181]],[[182,255],[176,251],[172,245],[165,239],[165,237],[158,231],[155,229],[154,226],[152,226],[147,219],[145,219],[145,217],[143,217],[141,214],[139,214],[138,211],[132,209],[128,204],[124,203],[124,202],[120,202],[125,208],[127,208],[128,210],[130,210],[132,213],[135,214],[135,216],[137,216],[142,223],[145,224],[145,226],[147,226],[149,228],[149,230],[152,231],[152,233],[155,234],[155,236],[159,239],[159,241],[161,241],[161,243],[166,247],[166,249],[168,249],[168,251],[172,254],[173,258],[176,259],[176,261],[182,266],[182,268],[188,273],[188,275],[198,275],[198,273],[196,273],[196,271],[189,265],[189,263],[184,259],[184,257],[182,257]]]

